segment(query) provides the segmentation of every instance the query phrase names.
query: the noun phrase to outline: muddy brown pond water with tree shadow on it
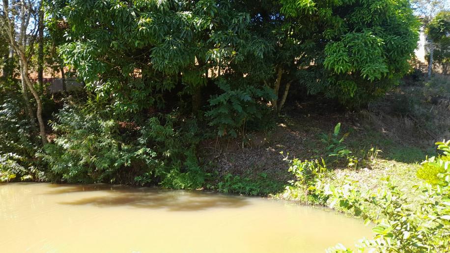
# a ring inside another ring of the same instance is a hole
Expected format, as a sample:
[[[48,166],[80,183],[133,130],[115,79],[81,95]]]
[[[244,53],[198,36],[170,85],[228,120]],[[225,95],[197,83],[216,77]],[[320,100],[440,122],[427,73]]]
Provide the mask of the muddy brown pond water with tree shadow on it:
[[[258,197],[109,185],[0,185],[0,252],[291,253],[353,246],[362,221]]]

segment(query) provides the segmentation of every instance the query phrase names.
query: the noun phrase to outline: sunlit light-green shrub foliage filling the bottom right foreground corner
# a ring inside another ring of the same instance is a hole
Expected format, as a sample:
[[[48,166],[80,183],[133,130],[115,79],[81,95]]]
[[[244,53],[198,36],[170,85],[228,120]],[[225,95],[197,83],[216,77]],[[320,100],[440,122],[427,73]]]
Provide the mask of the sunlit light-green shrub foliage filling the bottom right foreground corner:
[[[422,171],[437,170],[432,180],[414,186],[421,198],[420,207],[412,209],[404,193],[388,183],[388,189],[361,192],[352,182],[334,187],[317,184],[317,194],[327,199],[330,206],[353,210],[367,223],[373,222],[373,239],[362,240],[355,252],[375,250],[377,252],[446,252],[450,242],[450,141],[437,142],[444,154],[427,159]],[[423,173],[420,173],[423,174]],[[389,178],[386,180],[389,181]],[[369,204],[369,205],[366,205]],[[379,213],[375,216],[369,210],[375,206]],[[353,252],[342,245],[330,248],[328,252]]]

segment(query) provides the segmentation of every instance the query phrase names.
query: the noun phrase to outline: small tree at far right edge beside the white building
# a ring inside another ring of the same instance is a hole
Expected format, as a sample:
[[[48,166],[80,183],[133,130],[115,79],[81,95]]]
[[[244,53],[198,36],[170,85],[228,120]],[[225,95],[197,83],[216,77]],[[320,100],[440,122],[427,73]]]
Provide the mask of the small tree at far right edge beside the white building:
[[[440,11],[430,21],[426,32],[435,44],[436,62],[447,74],[450,64],[450,11]]]

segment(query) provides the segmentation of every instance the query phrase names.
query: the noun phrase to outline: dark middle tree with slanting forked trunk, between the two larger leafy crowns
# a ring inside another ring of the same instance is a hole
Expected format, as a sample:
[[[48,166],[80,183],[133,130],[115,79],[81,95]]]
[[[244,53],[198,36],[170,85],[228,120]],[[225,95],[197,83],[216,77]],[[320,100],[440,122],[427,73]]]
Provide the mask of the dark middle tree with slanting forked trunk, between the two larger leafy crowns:
[[[319,58],[323,45],[316,39],[317,23],[307,24],[307,16],[293,19],[283,15],[279,1],[242,2],[242,11],[249,12],[249,29],[262,43],[261,57],[250,57],[234,67],[246,73],[246,78],[263,83],[274,93],[271,104],[280,113],[292,84],[305,84],[314,72],[314,59]]]

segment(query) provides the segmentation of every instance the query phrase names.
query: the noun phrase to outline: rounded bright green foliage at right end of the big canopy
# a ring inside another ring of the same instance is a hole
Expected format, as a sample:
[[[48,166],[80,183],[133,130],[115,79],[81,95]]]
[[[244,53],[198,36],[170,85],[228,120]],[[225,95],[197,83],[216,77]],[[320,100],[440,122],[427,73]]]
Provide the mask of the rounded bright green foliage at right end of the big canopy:
[[[409,70],[419,23],[408,0],[282,0],[281,12],[291,24],[305,24],[309,36],[317,32],[311,37],[322,42],[314,62],[326,72],[317,72],[322,82],[307,85],[311,93],[360,106]]]

